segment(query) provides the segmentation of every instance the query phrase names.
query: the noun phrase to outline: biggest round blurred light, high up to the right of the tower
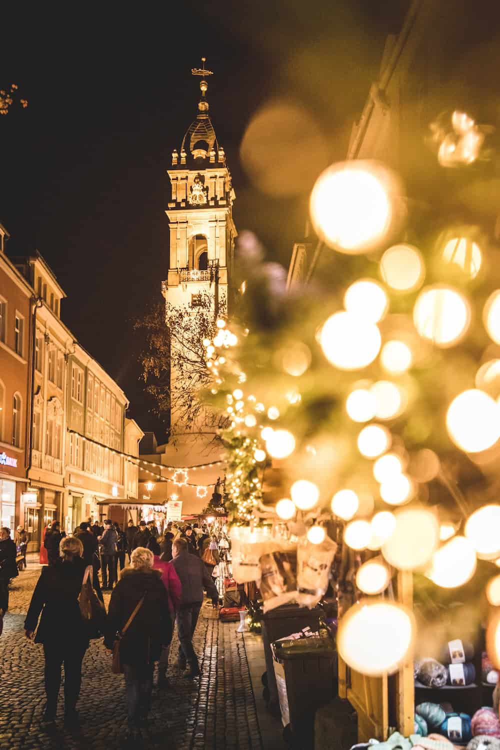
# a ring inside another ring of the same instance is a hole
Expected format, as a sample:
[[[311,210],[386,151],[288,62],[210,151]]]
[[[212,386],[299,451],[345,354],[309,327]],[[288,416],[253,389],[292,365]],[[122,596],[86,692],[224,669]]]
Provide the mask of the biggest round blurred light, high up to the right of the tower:
[[[382,241],[393,218],[388,172],[368,162],[325,169],[310,196],[316,234],[341,253],[359,254]]]

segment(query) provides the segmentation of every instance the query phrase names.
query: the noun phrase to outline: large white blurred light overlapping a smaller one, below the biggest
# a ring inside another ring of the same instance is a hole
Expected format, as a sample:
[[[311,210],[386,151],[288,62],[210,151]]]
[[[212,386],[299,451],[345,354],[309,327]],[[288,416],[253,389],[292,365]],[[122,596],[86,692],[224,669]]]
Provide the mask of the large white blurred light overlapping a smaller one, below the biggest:
[[[331,315],[320,334],[326,359],[339,370],[366,368],[379,353],[381,341],[374,323],[351,313]]]

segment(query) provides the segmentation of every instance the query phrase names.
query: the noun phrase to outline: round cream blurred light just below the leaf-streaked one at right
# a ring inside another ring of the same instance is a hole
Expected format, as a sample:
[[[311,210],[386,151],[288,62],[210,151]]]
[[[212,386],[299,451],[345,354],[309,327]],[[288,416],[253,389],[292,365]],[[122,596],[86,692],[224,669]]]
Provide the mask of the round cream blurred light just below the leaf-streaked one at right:
[[[451,287],[426,287],[413,308],[418,333],[437,347],[457,344],[466,334],[470,320],[469,302]]]

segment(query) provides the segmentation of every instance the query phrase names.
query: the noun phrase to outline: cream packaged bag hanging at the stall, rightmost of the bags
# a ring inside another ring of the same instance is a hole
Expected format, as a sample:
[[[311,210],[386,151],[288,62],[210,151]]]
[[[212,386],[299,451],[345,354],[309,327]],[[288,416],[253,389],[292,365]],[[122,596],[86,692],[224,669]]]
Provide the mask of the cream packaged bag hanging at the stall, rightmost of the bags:
[[[311,544],[307,538],[298,544],[297,601],[301,607],[312,609],[325,595],[336,551],[337,544],[328,536],[321,544]]]

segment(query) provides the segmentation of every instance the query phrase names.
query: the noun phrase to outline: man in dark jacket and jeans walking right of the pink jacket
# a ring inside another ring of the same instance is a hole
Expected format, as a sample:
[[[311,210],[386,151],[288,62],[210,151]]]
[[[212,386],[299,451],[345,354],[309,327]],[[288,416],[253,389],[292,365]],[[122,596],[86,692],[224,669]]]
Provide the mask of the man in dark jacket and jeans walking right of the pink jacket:
[[[207,590],[214,607],[219,603],[219,593],[214,581],[208,575],[198,555],[190,555],[187,543],[183,538],[175,539],[172,543],[172,565],[181,580],[181,605],[175,619],[180,641],[179,667],[185,669],[189,664],[188,676],[199,675],[199,664],[193,649],[193,634],[198,622],[199,610],[203,603],[203,589]]]

